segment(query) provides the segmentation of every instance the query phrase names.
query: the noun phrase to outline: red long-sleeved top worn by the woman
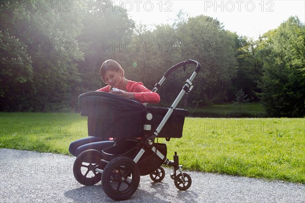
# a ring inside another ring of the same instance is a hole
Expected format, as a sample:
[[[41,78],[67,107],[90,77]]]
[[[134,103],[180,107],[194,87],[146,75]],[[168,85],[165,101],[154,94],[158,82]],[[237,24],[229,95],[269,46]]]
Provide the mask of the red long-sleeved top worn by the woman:
[[[119,87],[116,87],[116,88],[119,88]],[[159,103],[159,101],[160,101],[159,94],[157,94],[156,92],[150,91],[141,82],[129,81],[126,85],[126,90],[128,92],[133,92],[134,96],[135,96],[135,99],[137,101],[140,101],[141,103],[146,103],[147,102],[147,103],[156,104],[156,103]],[[111,86],[107,85],[106,87],[98,89],[97,91],[110,92],[111,91]]]

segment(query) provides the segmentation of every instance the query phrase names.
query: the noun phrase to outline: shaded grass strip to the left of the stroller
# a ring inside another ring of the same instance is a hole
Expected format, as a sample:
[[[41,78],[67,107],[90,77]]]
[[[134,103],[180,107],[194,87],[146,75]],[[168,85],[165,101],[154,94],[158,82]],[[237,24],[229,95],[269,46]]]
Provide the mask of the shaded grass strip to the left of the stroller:
[[[72,113],[0,113],[0,148],[68,154],[87,136],[87,118]]]

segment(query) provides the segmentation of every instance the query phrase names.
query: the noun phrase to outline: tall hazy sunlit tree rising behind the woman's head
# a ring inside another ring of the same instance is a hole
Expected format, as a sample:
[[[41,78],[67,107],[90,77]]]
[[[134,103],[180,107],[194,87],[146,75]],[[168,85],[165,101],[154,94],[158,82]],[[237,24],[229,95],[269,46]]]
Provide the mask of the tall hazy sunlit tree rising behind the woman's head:
[[[99,75],[105,60],[114,59],[126,65],[129,58],[123,45],[131,41],[135,27],[126,10],[113,6],[109,1],[86,1],[85,4],[84,28],[78,37],[84,51],[84,61],[78,62],[82,92],[94,91],[105,85]]]

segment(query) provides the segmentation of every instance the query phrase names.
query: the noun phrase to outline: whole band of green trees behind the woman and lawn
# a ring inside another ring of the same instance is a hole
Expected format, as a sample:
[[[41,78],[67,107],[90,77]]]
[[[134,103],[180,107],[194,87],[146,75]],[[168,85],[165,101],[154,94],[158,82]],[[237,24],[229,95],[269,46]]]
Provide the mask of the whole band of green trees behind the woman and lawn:
[[[109,58],[150,89],[169,67],[192,58],[202,71],[181,105],[234,101],[242,89],[245,99],[263,101],[268,116],[305,115],[305,32],[297,17],[255,41],[203,15],[180,12],[174,24],[148,29],[107,1],[18,2],[1,2],[0,111],[78,111],[79,94],[105,85],[99,68]],[[161,105],[192,71],[166,80]]]

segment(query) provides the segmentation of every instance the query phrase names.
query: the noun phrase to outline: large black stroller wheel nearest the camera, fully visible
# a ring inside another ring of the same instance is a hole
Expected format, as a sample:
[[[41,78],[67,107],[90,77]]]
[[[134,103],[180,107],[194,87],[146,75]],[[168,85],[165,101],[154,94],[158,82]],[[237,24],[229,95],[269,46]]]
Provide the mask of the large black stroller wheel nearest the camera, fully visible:
[[[114,200],[129,198],[138,189],[140,172],[128,157],[112,159],[104,168],[102,186],[105,194]]]

